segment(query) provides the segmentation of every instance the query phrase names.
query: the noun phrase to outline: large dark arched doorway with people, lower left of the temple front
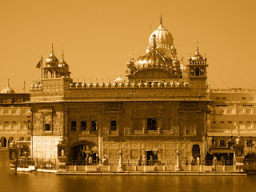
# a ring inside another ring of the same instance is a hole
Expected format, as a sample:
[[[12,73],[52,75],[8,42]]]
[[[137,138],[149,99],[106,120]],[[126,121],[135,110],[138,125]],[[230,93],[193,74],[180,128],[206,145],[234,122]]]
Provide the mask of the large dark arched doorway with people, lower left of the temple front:
[[[70,146],[69,161],[71,164],[85,165],[88,163],[88,158],[91,157],[93,162],[96,162],[98,147],[94,142],[76,142]]]

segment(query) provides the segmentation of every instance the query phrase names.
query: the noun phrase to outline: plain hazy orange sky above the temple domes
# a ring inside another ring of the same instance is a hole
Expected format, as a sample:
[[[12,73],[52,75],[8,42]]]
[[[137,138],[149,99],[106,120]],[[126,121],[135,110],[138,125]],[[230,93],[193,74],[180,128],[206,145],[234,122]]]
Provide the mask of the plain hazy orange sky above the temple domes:
[[[74,82],[125,77],[126,62],[146,53],[150,34],[163,26],[178,58],[206,54],[213,89],[256,88],[256,1],[0,1],[0,90],[16,93],[41,78],[35,66],[62,50]]]

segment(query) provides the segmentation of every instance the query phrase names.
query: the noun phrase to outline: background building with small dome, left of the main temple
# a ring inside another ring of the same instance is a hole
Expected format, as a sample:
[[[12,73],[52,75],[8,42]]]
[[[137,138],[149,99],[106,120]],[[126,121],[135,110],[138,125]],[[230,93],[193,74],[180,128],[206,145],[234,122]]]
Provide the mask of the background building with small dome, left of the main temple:
[[[30,129],[28,116],[30,107],[26,103],[30,94],[16,94],[9,85],[0,94],[0,148],[10,145],[13,140],[29,152]]]

